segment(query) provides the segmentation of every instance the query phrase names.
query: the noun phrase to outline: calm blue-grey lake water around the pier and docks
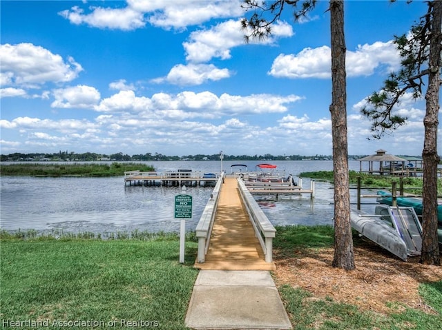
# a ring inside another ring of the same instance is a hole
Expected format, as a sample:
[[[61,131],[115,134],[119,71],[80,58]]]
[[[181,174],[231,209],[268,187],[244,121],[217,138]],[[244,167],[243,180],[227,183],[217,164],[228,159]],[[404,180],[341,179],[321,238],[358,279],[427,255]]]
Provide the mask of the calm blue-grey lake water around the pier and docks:
[[[146,162],[157,172],[177,169],[220,173],[220,161]],[[224,161],[223,169],[231,173]],[[239,162],[254,171],[262,162]],[[272,161],[278,171],[300,172],[332,170],[332,161]],[[350,161],[350,169],[359,170],[359,162]],[[303,186],[309,188],[308,178]],[[329,183],[316,182],[316,198],[304,196],[256,196],[273,225],[324,225],[333,223],[333,189]],[[213,187],[187,187],[193,196],[193,218],[186,229],[194,230]],[[64,231],[106,233],[116,231],[179,231],[180,219],[173,218],[175,195],[180,187],[140,187],[124,185],[122,176],[112,178],[1,178],[0,228],[8,231],[35,229],[41,232]],[[367,192],[365,192],[367,193]],[[374,192],[372,192],[373,194]],[[351,190],[356,203],[356,190]],[[369,200],[373,202],[374,200]],[[370,210],[374,207],[366,206]],[[355,205],[356,208],[356,205]]]

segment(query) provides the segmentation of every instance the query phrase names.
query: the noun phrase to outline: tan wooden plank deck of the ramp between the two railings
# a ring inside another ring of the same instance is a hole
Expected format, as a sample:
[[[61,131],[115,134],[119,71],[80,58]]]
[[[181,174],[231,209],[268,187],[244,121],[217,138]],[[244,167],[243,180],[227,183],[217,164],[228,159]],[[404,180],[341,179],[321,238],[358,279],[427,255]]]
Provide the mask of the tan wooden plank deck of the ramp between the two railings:
[[[265,262],[258,238],[242,204],[236,178],[225,178],[204,263],[195,268],[215,270],[274,270]]]

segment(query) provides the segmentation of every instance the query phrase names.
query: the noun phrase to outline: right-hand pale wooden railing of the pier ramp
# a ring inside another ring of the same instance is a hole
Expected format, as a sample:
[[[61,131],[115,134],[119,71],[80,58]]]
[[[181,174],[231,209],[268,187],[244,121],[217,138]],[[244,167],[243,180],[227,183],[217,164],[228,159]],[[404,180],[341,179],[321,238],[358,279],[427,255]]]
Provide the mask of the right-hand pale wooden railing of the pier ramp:
[[[276,229],[264,212],[262,212],[255,198],[253,198],[246,185],[244,185],[244,181],[241,178],[237,180],[240,196],[249,213],[250,221],[255,229],[255,234],[260,242],[262,251],[264,251],[265,261],[273,262],[273,238],[275,237]]]

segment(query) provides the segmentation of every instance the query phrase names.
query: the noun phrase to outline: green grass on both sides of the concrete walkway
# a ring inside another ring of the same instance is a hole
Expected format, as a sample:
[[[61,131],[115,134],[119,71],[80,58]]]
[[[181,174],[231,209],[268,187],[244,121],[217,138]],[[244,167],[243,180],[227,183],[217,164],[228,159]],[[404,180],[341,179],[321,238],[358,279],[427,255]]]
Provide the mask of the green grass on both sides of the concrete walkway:
[[[277,265],[282,269],[285,262],[295,260],[287,267],[296,277],[299,277],[296,267],[306,268],[302,267],[307,262],[304,260],[323,260],[323,251],[333,245],[333,229],[329,226],[277,227],[277,230],[274,240]],[[178,262],[176,234],[138,234],[130,239],[128,235],[115,234],[114,238],[124,239],[108,240],[82,237],[65,234],[56,239],[2,233],[0,322],[4,329],[17,328],[12,324],[17,321],[48,322],[48,327],[40,323],[21,329],[62,329],[64,324],[73,325],[72,329],[92,328],[87,324],[81,326],[80,321],[95,321],[95,329],[127,329],[128,322],[133,322],[131,329],[146,326],[186,329],[184,318],[198,275],[193,269],[197,243],[191,234],[186,241],[184,265]],[[358,236],[354,240],[358,249],[365,247]],[[409,267],[407,262],[390,260]],[[315,274],[327,282],[330,269],[320,266]],[[383,273],[385,269],[375,271]],[[395,271],[392,276],[403,277],[399,268]],[[273,276],[277,285],[282,282],[278,271]],[[439,329],[442,280],[429,282],[425,276],[421,278],[420,297],[428,307],[427,312],[403,306],[401,302],[396,303],[400,308],[393,313],[367,311],[338,301],[334,293],[339,288],[324,298],[294,285],[278,287],[294,329]],[[72,323],[75,321],[78,327]]]

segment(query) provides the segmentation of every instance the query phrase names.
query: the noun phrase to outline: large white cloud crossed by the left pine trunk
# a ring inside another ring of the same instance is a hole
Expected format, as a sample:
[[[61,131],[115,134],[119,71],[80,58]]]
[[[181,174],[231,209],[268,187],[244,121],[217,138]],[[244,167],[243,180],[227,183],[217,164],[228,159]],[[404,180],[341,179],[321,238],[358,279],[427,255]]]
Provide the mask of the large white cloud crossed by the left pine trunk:
[[[278,78],[319,78],[331,76],[331,50],[328,46],[305,48],[298,54],[280,54],[273,61],[269,74]],[[383,68],[391,72],[398,70],[400,59],[391,41],[380,41],[372,45],[359,45],[355,52],[347,50],[347,76],[369,76],[374,70]]]

